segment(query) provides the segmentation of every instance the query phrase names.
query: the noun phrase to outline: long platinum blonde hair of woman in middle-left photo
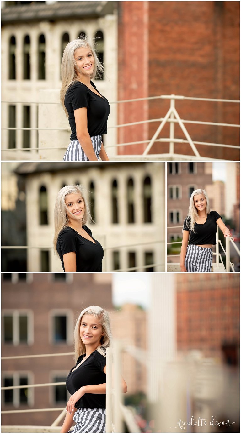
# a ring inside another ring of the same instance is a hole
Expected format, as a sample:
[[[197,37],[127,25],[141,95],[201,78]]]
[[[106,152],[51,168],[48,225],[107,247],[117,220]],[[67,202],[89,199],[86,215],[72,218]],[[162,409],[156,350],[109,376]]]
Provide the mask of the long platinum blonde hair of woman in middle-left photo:
[[[93,222],[93,218],[90,214],[90,208],[89,205],[84,197],[85,190],[84,187],[82,187],[80,184],[74,184],[74,185],[66,185],[65,187],[61,188],[61,190],[58,192],[58,195],[56,197],[55,201],[55,211],[54,211],[54,221],[55,221],[55,236],[53,239],[53,245],[54,245],[54,252],[58,255],[56,250],[58,235],[65,227],[68,226],[69,220],[68,220],[68,207],[65,203],[65,197],[68,194],[80,194],[84,201],[84,215],[82,217],[82,224],[86,224],[87,221]],[[72,218],[78,220],[78,217],[76,217],[74,214]]]

